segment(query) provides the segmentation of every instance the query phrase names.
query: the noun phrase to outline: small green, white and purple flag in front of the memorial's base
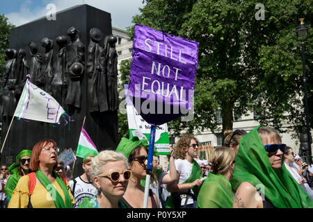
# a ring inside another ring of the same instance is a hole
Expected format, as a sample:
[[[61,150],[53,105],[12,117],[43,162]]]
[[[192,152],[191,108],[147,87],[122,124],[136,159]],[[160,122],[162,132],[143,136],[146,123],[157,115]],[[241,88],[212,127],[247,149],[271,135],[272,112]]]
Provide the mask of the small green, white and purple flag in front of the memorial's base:
[[[88,133],[86,130],[82,127],[81,128],[81,135],[79,137],[79,144],[77,146],[77,151],[76,151],[76,156],[77,157],[85,157],[88,153],[96,153],[98,154],[99,152],[97,151],[97,147],[93,143],[93,140],[90,139]]]

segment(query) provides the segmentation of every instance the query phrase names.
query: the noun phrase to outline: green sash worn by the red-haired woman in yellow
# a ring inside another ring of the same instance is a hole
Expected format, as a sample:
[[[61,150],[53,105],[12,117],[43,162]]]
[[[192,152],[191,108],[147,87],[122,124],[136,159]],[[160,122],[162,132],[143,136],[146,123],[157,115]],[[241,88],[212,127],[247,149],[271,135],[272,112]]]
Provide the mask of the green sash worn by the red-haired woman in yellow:
[[[63,180],[58,176],[58,174],[53,171],[53,176],[56,178],[56,182],[58,182],[58,185],[62,188],[63,194],[65,196],[65,203],[63,201],[62,196],[58,193],[54,185],[48,180],[48,178],[45,176],[44,173],[40,169],[36,172],[36,177],[41,182],[41,184],[47,189],[49,185],[49,189],[47,191],[51,195],[51,197],[54,199],[54,204],[56,205],[56,208],[72,208],[72,202],[70,198],[70,194],[68,193],[67,187],[64,184]]]

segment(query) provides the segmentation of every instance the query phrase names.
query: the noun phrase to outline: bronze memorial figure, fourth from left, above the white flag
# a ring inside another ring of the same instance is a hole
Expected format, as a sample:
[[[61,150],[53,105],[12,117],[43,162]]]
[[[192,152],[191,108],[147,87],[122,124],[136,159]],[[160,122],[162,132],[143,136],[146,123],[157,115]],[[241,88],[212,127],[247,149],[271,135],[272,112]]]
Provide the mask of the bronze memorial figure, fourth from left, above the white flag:
[[[45,91],[48,94],[52,94],[51,81],[54,77],[53,69],[53,55],[54,55],[54,41],[44,37],[41,42],[41,46],[45,48],[45,54],[42,59],[42,76],[45,82]]]

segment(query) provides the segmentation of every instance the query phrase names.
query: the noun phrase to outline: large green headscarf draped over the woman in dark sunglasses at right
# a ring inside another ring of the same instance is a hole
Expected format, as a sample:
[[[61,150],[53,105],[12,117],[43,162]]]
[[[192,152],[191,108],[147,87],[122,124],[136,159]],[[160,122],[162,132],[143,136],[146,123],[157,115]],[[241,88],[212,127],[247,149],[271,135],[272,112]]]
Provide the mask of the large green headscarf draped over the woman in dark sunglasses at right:
[[[262,126],[262,125],[260,125]],[[232,187],[236,190],[241,182],[253,186],[264,186],[264,195],[278,208],[313,207],[313,201],[298,185],[284,167],[275,170],[271,167],[264,145],[259,137],[258,126],[240,140],[236,155]]]

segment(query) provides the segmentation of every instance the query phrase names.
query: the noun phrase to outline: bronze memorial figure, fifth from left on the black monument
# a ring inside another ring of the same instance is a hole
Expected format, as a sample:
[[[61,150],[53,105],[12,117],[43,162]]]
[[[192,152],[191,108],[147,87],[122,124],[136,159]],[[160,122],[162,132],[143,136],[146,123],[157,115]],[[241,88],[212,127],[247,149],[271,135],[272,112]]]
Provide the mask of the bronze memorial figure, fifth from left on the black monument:
[[[67,37],[61,35],[56,37],[56,44],[59,46],[58,53],[56,53],[56,65],[54,68],[54,75],[51,80],[51,96],[58,101],[61,106],[65,105],[66,96],[66,45]]]

